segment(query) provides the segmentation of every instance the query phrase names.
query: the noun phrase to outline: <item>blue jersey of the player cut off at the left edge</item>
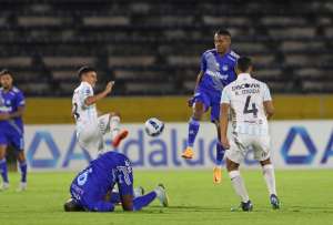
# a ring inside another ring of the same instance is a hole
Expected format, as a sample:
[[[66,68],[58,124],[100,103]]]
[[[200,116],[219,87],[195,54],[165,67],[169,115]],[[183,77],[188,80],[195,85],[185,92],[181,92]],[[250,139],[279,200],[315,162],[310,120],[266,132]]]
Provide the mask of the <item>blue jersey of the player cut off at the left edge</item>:
[[[19,106],[24,106],[26,101],[23,93],[16,86],[4,92],[0,89],[0,113],[13,113]],[[0,129],[13,129],[19,133],[23,133],[22,117],[14,117],[8,121],[0,121]]]

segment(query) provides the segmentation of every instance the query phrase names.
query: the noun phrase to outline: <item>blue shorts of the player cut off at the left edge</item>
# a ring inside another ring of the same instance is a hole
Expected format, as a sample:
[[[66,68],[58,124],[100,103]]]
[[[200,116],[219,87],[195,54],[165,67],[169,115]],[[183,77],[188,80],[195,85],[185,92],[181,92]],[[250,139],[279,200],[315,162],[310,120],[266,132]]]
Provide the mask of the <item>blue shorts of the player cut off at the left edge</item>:
[[[11,145],[16,151],[23,151],[23,132],[11,126],[0,127],[0,145]]]

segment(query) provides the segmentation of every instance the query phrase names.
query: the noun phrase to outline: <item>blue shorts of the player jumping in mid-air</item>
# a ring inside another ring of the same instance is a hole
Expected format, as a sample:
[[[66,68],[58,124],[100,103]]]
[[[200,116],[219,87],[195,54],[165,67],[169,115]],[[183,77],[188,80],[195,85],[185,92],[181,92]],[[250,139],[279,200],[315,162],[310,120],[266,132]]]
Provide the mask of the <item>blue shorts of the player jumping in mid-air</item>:
[[[194,102],[202,102],[204,105],[204,112],[206,112],[211,108],[211,121],[220,120],[220,101],[221,93],[212,92],[205,89],[198,89],[193,96]]]

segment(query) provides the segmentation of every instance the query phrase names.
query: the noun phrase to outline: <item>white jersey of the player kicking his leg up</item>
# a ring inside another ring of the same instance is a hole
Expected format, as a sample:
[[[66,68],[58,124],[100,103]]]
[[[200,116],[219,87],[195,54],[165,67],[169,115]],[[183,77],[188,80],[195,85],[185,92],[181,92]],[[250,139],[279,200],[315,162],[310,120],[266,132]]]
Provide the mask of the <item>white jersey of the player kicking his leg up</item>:
[[[93,89],[88,82],[81,84],[74,90],[72,98],[72,114],[77,125],[84,123],[97,123],[98,113],[95,104],[85,105],[84,100],[93,95]]]

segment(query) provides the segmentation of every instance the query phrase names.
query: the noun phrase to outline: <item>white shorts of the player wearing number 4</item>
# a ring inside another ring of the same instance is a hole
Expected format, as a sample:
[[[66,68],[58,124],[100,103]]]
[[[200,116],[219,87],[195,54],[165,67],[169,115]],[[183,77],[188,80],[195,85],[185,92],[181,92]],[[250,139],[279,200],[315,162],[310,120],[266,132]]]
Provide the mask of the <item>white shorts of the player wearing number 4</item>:
[[[269,135],[249,135],[233,133],[230,141],[230,149],[225,151],[225,157],[240,164],[244,161],[249,150],[253,150],[254,160],[265,161],[270,157],[270,142]]]

